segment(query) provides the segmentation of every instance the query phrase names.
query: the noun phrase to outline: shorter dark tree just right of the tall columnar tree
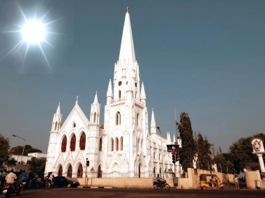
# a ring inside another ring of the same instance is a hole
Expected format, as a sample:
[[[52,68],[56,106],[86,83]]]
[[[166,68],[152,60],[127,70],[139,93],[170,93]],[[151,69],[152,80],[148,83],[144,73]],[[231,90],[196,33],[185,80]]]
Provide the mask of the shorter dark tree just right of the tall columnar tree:
[[[211,144],[208,139],[202,137],[202,134],[199,132],[197,135],[197,168],[203,170],[211,169],[212,159],[211,159]]]

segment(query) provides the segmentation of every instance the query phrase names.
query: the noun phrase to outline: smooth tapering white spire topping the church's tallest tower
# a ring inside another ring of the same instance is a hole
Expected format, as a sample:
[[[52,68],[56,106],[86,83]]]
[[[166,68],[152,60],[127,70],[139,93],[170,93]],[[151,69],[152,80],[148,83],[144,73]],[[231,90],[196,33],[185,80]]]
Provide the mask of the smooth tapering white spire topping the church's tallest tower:
[[[130,14],[128,12],[128,6],[126,8],[123,33],[121,38],[119,60],[121,59],[131,59],[132,61],[135,61],[135,47],[132,40],[132,28],[130,26]]]

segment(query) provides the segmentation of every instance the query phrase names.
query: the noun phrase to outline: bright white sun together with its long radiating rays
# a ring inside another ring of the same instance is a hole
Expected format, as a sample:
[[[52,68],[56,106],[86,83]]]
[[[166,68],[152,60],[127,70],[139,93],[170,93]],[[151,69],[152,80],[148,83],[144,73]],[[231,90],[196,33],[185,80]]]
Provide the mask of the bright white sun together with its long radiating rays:
[[[11,49],[9,52],[3,56],[1,60],[3,60],[6,56],[11,54],[11,52],[17,52],[18,50],[22,49],[22,45],[26,45],[24,47],[24,58],[22,61],[22,67],[24,66],[24,62],[27,58],[27,54],[29,52],[29,47],[31,45],[37,45],[40,49],[40,52],[43,54],[43,57],[45,58],[45,61],[47,63],[47,66],[49,66],[50,71],[52,72],[52,68],[50,66],[50,63],[47,59],[47,56],[45,55],[45,52],[43,50],[43,45],[50,45],[50,47],[55,48],[51,43],[48,42],[48,37],[50,34],[58,34],[56,32],[50,31],[50,24],[56,22],[56,20],[43,23],[43,19],[47,16],[47,14],[50,12],[48,10],[42,17],[37,17],[37,12],[35,12],[35,15],[32,18],[26,17],[20,6],[17,4],[18,8],[20,9],[20,12],[22,16],[24,17],[24,24],[16,24],[20,27],[20,29],[14,30],[14,31],[5,31],[3,33],[20,33],[22,36],[22,40],[18,41],[13,47],[10,47]]]

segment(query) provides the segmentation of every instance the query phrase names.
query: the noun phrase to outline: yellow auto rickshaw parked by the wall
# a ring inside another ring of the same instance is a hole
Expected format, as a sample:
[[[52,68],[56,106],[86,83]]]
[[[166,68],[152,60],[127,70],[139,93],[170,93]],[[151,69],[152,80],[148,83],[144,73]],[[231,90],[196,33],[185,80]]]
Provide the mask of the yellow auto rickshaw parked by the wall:
[[[220,178],[215,174],[201,174],[199,176],[199,185],[202,190],[206,190],[207,188],[224,189],[224,185],[220,181]]]

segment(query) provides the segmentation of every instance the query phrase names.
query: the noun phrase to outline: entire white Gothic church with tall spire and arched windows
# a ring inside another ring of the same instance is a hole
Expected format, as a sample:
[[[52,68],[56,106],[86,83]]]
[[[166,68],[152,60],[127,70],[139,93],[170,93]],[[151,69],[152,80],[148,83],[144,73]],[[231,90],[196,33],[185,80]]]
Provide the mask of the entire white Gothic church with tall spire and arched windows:
[[[167,132],[165,139],[156,129],[152,109],[149,130],[146,93],[139,77],[127,10],[119,60],[114,63],[114,78],[109,79],[107,88],[104,124],[100,125],[97,93],[88,117],[76,100],[62,122],[59,103],[50,131],[45,174],[84,178],[88,158],[87,171],[93,168],[93,177],[153,178],[158,174],[172,177],[169,172],[174,172],[174,165],[167,144],[174,144],[175,137],[172,141]]]

